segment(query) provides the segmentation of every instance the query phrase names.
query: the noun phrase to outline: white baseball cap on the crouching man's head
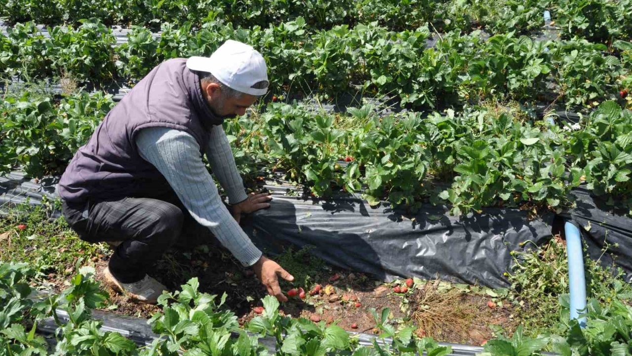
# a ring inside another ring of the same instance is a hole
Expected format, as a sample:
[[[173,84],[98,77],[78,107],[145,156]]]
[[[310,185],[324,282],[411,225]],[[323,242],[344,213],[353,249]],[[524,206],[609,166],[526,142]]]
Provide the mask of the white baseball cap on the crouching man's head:
[[[186,67],[209,72],[231,89],[261,96],[268,91],[268,73],[264,57],[245,43],[229,39],[210,57],[193,56],[186,60]],[[265,81],[265,87],[258,82]]]

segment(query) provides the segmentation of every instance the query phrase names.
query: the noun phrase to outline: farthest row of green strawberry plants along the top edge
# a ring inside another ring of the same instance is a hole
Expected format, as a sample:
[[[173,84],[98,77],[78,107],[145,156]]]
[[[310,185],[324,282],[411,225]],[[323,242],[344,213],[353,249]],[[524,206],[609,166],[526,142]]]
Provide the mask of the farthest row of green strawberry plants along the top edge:
[[[112,24],[147,25],[162,22],[193,23],[203,27],[222,20],[238,27],[268,27],[304,16],[310,29],[331,29],[336,25],[378,22],[391,30],[432,26],[440,32],[485,29],[493,34],[540,29],[543,13],[565,38],[584,37],[611,43],[632,39],[631,0],[3,0],[0,18],[11,23],[33,20],[46,25],[76,24],[84,18],[98,18]]]

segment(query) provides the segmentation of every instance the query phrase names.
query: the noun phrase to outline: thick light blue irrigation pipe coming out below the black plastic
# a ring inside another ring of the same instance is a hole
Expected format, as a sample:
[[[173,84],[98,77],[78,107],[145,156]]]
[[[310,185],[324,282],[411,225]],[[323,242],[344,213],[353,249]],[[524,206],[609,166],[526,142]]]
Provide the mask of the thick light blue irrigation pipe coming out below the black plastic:
[[[577,319],[580,327],[586,326],[586,318],[579,317],[586,308],[586,277],[584,257],[581,250],[580,229],[566,222],[566,253],[568,254],[568,284],[571,299],[571,320]]]

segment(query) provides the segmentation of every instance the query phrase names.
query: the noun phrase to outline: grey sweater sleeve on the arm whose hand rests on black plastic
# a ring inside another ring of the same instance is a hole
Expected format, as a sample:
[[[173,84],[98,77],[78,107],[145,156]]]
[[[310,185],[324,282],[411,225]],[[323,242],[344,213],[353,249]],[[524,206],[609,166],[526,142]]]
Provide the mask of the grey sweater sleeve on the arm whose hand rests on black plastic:
[[[228,194],[231,204],[246,200],[248,195],[243,188],[243,181],[239,170],[235,165],[233,151],[228,142],[224,129],[217,125],[210,130],[209,144],[206,148],[206,156],[217,181]]]

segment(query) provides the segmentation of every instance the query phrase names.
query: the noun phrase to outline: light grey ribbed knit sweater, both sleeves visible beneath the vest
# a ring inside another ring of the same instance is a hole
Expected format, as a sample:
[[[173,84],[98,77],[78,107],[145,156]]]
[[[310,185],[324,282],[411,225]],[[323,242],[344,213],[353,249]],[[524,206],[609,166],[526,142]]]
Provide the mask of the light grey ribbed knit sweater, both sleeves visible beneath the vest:
[[[140,156],[164,175],[193,219],[208,227],[241,264],[250,266],[259,260],[261,251],[222,203],[193,136],[181,130],[150,127],[140,130],[136,145]],[[243,181],[221,126],[211,129],[205,152],[213,174],[228,193],[229,203],[245,200]]]

